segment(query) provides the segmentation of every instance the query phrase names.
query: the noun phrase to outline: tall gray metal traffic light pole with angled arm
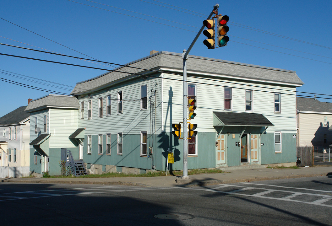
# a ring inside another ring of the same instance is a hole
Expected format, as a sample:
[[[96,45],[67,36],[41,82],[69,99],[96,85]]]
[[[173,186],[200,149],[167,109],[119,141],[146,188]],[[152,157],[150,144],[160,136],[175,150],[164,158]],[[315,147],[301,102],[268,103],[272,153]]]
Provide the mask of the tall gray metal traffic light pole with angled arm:
[[[213,10],[210,15],[207,17],[207,20],[211,18],[211,16],[217,10],[219,4],[215,4],[213,6]],[[203,25],[196,37],[194,38],[193,42],[190,44],[188,50],[183,50],[182,59],[183,59],[183,175],[182,179],[188,179],[188,124],[187,124],[187,105],[188,105],[188,89],[187,89],[187,59],[188,54],[192,47],[194,46],[195,42],[197,41],[198,37],[201,35],[205,26]]]

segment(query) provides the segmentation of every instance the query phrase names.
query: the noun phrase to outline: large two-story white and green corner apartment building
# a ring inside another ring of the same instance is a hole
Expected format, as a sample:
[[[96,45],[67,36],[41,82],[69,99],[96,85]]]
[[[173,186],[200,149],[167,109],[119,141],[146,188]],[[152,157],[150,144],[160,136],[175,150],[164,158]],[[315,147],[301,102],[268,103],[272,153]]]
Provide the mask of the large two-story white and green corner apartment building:
[[[197,100],[197,135],[188,168],[296,162],[294,71],[189,55],[188,96]],[[76,84],[78,127],[85,128],[83,161],[102,171],[182,169],[182,54],[156,52]]]

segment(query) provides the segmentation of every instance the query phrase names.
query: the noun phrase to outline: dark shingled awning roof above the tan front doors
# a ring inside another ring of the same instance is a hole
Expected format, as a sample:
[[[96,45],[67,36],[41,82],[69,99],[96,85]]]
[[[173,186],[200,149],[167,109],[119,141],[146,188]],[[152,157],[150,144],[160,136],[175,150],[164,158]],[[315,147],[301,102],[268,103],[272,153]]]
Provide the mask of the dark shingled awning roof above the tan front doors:
[[[213,112],[224,125],[274,126],[263,114],[238,112]]]

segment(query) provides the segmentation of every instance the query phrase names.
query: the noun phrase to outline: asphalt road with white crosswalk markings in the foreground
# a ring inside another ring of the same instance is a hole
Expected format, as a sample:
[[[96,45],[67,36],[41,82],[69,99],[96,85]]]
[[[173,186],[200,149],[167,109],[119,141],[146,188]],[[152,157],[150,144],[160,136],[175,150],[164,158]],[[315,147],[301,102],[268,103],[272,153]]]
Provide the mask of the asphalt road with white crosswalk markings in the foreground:
[[[332,178],[191,188],[0,184],[1,225],[331,225]]]

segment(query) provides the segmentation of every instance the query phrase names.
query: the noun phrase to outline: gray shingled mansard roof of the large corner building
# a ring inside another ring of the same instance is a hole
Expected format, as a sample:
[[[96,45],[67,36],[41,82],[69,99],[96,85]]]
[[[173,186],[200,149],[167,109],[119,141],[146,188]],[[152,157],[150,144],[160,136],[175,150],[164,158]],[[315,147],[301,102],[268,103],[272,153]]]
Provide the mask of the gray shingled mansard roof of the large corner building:
[[[181,53],[172,52],[157,52],[153,55],[138,59],[136,61],[126,64],[127,66],[154,69],[160,68],[169,70],[183,70],[183,60]],[[127,73],[121,73],[118,71],[125,71],[129,73],[151,73],[142,69],[120,67],[115,72],[107,72],[98,77],[78,82],[71,92],[73,95],[90,93],[99,89],[106,88],[107,85],[111,84],[120,79],[129,79],[135,75]],[[281,82],[290,83],[294,86],[301,86],[304,83],[296,75],[295,71],[283,70],[277,68],[263,67],[257,65],[250,65],[226,60],[212,59],[207,57],[200,57],[189,55],[187,60],[187,71],[193,72],[204,72],[215,75],[230,76],[232,78],[242,79],[258,79],[260,81],[269,82]],[[125,78],[127,77],[127,78]]]

